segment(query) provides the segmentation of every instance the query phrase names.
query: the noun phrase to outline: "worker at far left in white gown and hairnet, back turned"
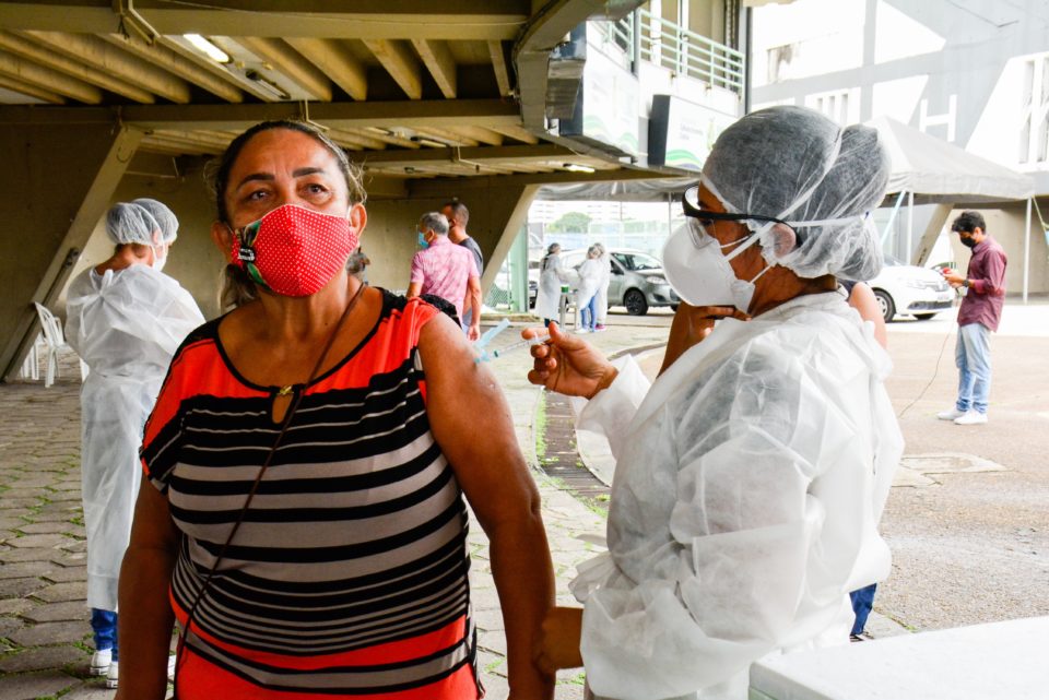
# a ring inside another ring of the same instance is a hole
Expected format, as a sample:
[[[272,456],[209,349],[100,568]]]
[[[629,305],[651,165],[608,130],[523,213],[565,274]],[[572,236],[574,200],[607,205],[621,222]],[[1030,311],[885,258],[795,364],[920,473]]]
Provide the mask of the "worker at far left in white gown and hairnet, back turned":
[[[172,356],[204,322],[197,302],[161,272],[178,230],[156,200],[118,203],[106,217],[111,258],[89,268],[67,294],[66,336],[91,372],[81,391],[81,473],[87,531],[91,672],[118,672],[117,580],[131,534],[142,466],[138,451]]]

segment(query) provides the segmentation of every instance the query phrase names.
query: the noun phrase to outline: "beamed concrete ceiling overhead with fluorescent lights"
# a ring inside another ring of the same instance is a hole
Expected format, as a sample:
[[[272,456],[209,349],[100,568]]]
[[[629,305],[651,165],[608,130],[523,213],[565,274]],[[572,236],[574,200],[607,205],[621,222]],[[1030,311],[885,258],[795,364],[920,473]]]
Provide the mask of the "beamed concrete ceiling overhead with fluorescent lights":
[[[0,0],[0,123],[111,121],[144,132],[140,153],[192,158],[262,119],[299,118],[401,189],[437,177],[608,179],[629,164],[524,128],[512,61],[537,24],[604,4]]]

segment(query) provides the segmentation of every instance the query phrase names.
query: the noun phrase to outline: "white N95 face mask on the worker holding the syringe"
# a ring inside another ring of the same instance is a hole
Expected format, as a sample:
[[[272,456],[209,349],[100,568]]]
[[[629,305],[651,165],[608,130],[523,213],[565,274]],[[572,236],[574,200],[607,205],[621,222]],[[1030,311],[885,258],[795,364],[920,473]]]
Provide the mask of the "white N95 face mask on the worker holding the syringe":
[[[663,247],[663,273],[667,281],[691,306],[733,306],[750,310],[754,282],[768,271],[768,265],[750,282],[735,276],[729,261],[757,241],[754,232],[745,238],[720,245],[699,222],[688,218],[671,234]],[[738,246],[726,256],[722,248]]]

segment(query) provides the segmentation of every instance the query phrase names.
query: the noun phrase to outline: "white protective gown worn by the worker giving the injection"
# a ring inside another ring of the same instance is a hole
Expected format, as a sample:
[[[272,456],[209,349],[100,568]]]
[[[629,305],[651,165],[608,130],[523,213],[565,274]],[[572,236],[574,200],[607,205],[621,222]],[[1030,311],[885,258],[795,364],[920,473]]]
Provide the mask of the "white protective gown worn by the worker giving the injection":
[[[744,700],[752,662],[848,640],[848,592],[889,570],[889,368],[826,293],[719,322],[647,394],[629,360],[585,405],[616,455],[609,553],[573,582],[597,697]]]

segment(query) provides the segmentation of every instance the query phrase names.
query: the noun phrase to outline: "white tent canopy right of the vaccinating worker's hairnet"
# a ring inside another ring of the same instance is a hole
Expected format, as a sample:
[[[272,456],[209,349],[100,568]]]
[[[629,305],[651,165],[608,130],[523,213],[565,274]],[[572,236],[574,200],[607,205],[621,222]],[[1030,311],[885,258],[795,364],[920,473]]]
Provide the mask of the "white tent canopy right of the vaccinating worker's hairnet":
[[[914,192],[919,203],[959,206],[1025,200],[1035,193],[1030,176],[973,155],[895,119],[877,117],[867,123],[877,129],[892,156],[891,193]]]

